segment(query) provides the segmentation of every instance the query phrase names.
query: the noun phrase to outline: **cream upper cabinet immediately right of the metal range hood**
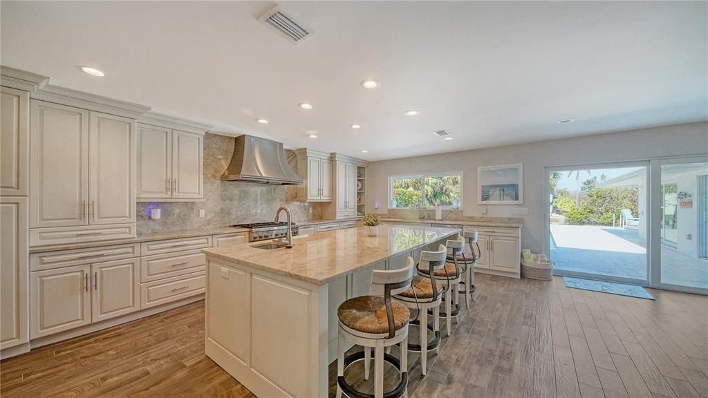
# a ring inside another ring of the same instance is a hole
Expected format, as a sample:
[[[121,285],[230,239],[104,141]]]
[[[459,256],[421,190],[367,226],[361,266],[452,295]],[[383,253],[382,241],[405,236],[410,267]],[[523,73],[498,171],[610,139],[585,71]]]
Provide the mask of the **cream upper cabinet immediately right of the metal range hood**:
[[[332,161],[329,154],[297,149],[297,175],[304,180],[298,187],[299,200],[331,202]]]

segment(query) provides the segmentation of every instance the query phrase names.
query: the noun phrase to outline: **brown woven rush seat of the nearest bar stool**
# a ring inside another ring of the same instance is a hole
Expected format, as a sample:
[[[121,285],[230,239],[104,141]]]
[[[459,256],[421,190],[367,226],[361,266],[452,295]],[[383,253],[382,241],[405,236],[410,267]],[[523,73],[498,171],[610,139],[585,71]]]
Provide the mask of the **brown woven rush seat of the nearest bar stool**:
[[[394,312],[394,330],[399,330],[408,324],[411,312],[400,302],[392,301]],[[337,310],[339,322],[355,331],[365,333],[388,333],[389,321],[386,313],[384,297],[360,296],[343,302]]]

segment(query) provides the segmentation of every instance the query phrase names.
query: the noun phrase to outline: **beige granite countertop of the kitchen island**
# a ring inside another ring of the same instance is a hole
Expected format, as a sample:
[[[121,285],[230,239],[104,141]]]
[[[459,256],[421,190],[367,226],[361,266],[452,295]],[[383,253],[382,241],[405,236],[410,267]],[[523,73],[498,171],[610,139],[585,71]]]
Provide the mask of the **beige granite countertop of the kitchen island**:
[[[368,237],[367,228],[347,228],[295,237],[292,249],[256,249],[264,242],[202,249],[212,258],[322,285],[396,254],[418,249],[457,234],[457,229],[394,227],[382,225],[379,236]]]

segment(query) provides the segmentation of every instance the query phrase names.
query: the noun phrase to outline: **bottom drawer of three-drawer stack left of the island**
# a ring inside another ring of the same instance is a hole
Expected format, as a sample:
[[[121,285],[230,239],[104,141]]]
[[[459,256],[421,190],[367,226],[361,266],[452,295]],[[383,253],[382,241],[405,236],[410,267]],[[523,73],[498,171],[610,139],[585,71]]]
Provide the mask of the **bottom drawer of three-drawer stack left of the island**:
[[[166,302],[198,295],[204,292],[205,283],[206,275],[204,271],[143,283],[140,285],[140,300],[142,303],[140,308],[154,307]]]

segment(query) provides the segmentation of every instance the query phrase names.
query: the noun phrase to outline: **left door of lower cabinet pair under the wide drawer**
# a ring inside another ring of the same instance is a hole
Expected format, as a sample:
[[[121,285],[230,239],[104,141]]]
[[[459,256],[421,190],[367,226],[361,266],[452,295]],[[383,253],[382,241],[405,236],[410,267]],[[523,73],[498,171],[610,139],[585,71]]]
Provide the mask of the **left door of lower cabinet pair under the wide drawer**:
[[[30,338],[91,324],[90,266],[30,273]]]

